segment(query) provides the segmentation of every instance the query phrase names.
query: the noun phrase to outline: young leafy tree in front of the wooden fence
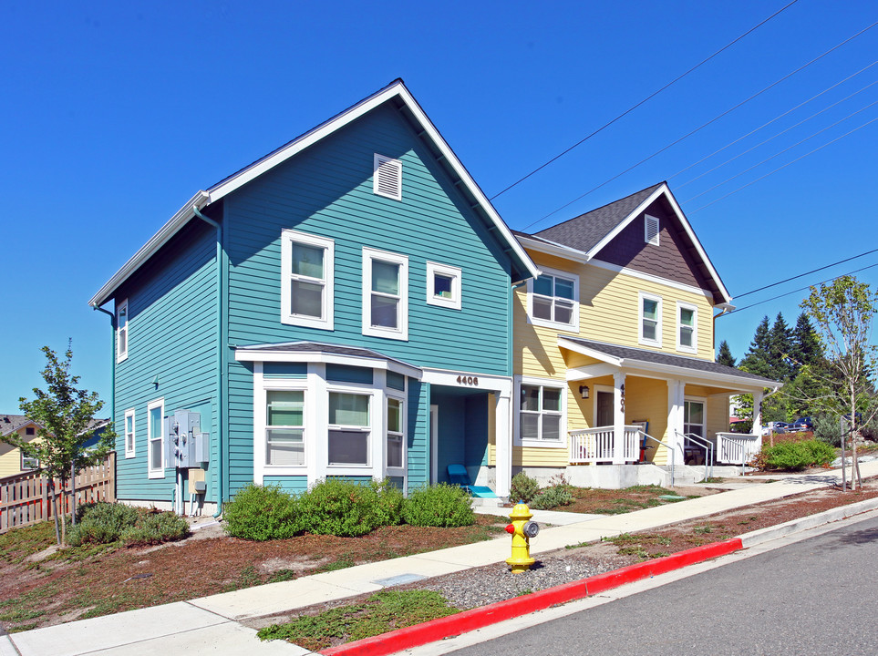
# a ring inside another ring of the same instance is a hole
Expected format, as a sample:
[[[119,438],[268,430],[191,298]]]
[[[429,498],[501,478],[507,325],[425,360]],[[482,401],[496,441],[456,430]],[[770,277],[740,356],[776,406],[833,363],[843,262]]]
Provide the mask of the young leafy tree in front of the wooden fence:
[[[60,530],[58,528],[58,518],[62,513],[55,479],[60,480],[63,490],[67,479],[74,476],[79,469],[102,462],[112,450],[116,434],[107,429],[100,436],[97,445],[86,447],[86,443],[94,436],[94,430],[89,426],[104,404],[98,400],[96,392],[77,389],[79,376],[70,375],[73,351],[69,344],[64,361],[59,360],[48,346],[44,346],[42,351],[46,354],[47,361],[43,370],[46,390],[35,387],[36,398],[33,401],[28,401],[25,397],[18,399],[22,413],[39,425],[37,439],[27,442],[13,433],[3,440],[21,449],[25,456],[39,461],[38,469],[49,480],[55,516],[55,537],[59,545],[64,545],[67,531],[63,520],[60,522]]]

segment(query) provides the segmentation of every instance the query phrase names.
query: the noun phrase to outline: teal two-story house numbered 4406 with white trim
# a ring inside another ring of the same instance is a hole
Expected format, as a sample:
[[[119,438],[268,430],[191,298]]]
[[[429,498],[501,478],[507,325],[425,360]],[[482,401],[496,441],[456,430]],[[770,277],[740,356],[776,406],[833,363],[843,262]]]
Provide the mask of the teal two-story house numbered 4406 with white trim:
[[[467,467],[509,494],[512,290],[538,274],[397,80],[196,193],[89,302],[117,497],[216,507]]]

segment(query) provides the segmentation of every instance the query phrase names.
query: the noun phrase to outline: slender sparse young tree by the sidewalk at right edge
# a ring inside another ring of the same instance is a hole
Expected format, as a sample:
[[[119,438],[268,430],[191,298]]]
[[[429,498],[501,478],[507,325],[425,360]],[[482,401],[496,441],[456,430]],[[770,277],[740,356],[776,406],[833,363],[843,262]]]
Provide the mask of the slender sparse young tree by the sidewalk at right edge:
[[[862,485],[857,463],[859,428],[869,423],[876,413],[875,347],[869,343],[873,315],[878,310],[878,294],[868,284],[852,276],[841,276],[831,284],[811,287],[811,295],[801,302],[817,326],[826,354],[830,375],[821,375],[817,367],[806,365],[806,375],[819,376],[822,394],[813,405],[839,418],[847,418],[850,429],[842,436],[842,489],[844,474],[844,443],[852,438],[851,487]]]

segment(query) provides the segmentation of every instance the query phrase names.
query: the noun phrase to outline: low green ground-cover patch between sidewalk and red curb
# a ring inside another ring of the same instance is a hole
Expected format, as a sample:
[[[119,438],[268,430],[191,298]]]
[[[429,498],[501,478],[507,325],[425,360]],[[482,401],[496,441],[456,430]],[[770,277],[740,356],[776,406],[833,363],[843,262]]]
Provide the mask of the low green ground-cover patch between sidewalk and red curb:
[[[305,615],[287,624],[273,624],[259,630],[257,635],[263,641],[284,640],[319,651],[456,612],[460,609],[449,606],[448,600],[438,592],[381,590],[362,603]]]

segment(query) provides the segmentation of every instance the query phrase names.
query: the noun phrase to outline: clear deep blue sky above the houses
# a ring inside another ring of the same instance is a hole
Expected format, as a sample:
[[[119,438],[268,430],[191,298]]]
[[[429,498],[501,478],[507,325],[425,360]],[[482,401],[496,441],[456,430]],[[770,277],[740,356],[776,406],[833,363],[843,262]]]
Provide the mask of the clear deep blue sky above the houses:
[[[0,412],[68,338],[108,400],[109,320],[88,299],[197,190],[393,79],[492,197],[787,2],[3,3]],[[878,248],[878,121],[861,127],[878,117],[878,26],[615,178],[876,20],[874,2],[799,0],[493,202],[539,231],[667,179],[734,297]],[[878,267],[858,276],[878,287]],[[740,358],[804,294],[719,319],[717,343]]]

